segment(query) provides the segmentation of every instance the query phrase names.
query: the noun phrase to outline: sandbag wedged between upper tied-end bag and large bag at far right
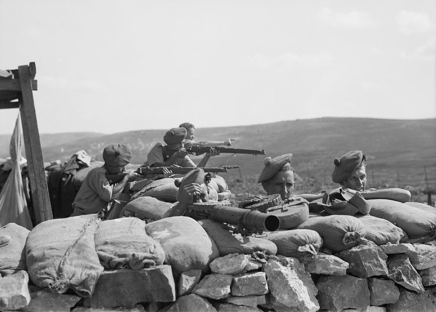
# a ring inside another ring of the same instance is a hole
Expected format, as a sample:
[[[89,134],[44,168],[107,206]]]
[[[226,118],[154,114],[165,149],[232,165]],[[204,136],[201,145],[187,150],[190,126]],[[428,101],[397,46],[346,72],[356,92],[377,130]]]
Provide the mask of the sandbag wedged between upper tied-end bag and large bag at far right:
[[[386,244],[399,244],[407,241],[407,234],[391,222],[369,215],[357,214],[355,217],[365,227],[365,239],[375,243],[377,246]]]

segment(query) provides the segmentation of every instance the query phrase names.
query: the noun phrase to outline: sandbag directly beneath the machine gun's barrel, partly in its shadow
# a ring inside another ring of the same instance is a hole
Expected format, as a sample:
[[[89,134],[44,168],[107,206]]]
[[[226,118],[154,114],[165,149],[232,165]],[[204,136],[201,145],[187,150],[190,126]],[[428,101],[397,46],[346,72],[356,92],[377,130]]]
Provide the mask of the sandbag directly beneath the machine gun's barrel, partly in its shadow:
[[[251,254],[254,251],[266,251],[267,254],[276,254],[277,246],[265,239],[252,236],[243,237],[241,234],[232,234],[224,228],[222,223],[213,220],[199,220],[198,224],[206,231],[218,247],[220,256],[230,253]]]

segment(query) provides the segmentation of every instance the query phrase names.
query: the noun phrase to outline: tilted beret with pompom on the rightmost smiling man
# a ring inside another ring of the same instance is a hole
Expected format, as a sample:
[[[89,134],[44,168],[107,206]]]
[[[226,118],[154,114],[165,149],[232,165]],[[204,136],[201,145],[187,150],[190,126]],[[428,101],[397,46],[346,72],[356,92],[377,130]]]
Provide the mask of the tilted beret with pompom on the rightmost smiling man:
[[[351,151],[342,155],[341,158],[335,158],[335,168],[331,174],[331,180],[334,183],[344,182],[366,159],[366,155],[362,151]]]

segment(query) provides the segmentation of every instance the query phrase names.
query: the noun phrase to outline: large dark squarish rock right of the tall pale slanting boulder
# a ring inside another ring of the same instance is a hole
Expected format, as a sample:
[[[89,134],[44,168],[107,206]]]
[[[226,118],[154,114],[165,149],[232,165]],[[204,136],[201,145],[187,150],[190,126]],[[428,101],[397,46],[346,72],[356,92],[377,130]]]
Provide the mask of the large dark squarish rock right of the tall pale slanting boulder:
[[[351,275],[321,276],[316,287],[316,298],[321,309],[339,312],[346,308],[362,310],[370,306],[370,291],[364,278]]]

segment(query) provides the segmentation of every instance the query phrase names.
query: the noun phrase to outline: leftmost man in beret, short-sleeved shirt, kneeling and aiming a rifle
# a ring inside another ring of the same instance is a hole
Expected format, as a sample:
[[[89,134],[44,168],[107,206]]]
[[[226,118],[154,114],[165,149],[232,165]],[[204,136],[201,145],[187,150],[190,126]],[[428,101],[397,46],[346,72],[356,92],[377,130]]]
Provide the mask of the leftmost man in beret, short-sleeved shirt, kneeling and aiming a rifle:
[[[123,192],[128,182],[136,180],[138,175],[128,171],[121,182],[110,185],[106,174],[125,172],[125,165],[130,162],[132,153],[123,144],[111,144],[103,150],[102,167],[92,169],[77,192],[72,207],[71,217],[107,211],[111,202]]]

